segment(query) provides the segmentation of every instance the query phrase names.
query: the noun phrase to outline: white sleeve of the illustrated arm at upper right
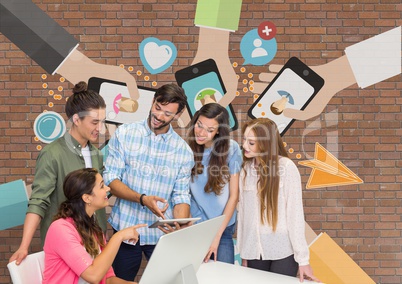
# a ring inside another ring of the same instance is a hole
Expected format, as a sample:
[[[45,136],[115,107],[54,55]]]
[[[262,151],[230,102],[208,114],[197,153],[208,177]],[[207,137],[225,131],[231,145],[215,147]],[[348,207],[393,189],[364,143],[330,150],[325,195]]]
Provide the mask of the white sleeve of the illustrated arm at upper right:
[[[345,49],[360,88],[401,73],[401,27],[394,28]]]

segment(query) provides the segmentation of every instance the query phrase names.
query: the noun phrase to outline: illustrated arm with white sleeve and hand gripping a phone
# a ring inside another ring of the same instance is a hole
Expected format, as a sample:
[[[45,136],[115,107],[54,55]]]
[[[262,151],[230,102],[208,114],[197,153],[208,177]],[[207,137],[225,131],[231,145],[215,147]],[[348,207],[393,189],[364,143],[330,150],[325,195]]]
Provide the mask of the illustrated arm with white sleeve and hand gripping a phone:
[[[260,80],[271,82],[281,65],[272,64],[261,73]],[[285,108],[286,117],[307,120],[319,115],[338,92],[358,84],[366,88],[401,73],[401,27],[394,28],[345,49],[345,55],[323,65],[311,67],[325,83],[304,110]],[[254,92],[261,93],[266,83],[254,84]]]

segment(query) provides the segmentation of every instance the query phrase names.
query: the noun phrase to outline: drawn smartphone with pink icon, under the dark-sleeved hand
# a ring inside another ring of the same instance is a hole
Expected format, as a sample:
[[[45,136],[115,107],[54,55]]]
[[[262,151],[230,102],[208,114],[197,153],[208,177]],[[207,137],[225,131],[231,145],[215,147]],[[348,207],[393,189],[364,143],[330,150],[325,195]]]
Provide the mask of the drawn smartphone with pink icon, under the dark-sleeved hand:
[[[131,123],[148,117],[155,89],[138,86],[140,97],[134,103],[123,82],[91,77],[88,89],[98,92],[106,102],[106,122]]]

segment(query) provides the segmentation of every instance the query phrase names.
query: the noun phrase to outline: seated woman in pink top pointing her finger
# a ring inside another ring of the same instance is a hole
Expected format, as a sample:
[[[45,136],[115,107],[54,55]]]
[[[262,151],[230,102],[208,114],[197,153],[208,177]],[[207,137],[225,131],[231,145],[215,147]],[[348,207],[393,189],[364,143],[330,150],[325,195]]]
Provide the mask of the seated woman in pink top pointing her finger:
[[[137,228],[115,233],[106,244],[95,211],[109,205],[102,176],[86,168],[69,173],[63,184],[67,198],[47,232],[43,283],[135,283],[117,278],[112,262],[121,242],[137,242]]]

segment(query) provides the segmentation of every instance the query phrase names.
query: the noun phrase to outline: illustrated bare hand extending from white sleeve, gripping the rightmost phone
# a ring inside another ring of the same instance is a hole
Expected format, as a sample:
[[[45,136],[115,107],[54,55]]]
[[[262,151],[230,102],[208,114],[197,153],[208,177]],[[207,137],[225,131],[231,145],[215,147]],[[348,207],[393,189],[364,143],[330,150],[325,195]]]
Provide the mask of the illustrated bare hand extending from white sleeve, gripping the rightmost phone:
[[[261,73],[259,79],[265,83],[255,82],[253,92],[261,94],[267,87],[267,82],[271,82],[282,67],[282,65],[277,64],[270,65],[269,71],[272,73]],[[329,63],[313,66],[311,69],[324,79],[324,86],[304,110],[285,108],[283,110],[284,116],[297,120],[315,117],[323,111],[336,93],[356,83],[346,55]]]

